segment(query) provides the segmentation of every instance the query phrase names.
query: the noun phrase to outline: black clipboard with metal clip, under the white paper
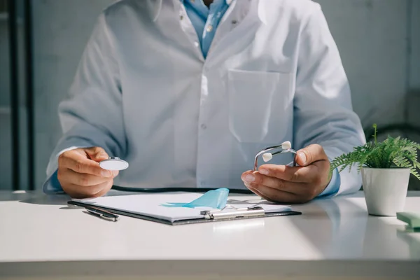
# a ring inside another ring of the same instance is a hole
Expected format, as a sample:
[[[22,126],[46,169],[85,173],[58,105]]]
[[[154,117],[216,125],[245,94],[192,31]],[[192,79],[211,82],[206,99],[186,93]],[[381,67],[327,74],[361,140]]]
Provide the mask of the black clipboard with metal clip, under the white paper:
[[[68,204],[75,205],[78,207],[92,207],[92,204],[83,203],[80,201],[69,201]],[[153,221],[156,223],[163,223],[165,225],[188,225],[195,223],[212,223],[212,222],[221,222],[221,221],[236,221],[244,220],[251,218],[267,218],[267,217],[276,217],[276,216],[293,216],[300,215],[302,212],[287,210],[287,211],[278,211],[278,212],[269,212],[266,213],[262,207],[247,207],[247,208],[236,208],[232,206],[227,206],[224,209],[211,209],[201,211],[202,218],[190,218],[182,219],[177,221],[169,221],[163,218],[156,218],[153,216],[148,216],[144,214],[137,214],[131,211],[123,211],[121,209],[112,209],[109,207],[94,206],[97,209],[102,209],[109,211],[113,214],[118,214],[121,216],[128,216],[132,218],[139,218],[146,221]]]

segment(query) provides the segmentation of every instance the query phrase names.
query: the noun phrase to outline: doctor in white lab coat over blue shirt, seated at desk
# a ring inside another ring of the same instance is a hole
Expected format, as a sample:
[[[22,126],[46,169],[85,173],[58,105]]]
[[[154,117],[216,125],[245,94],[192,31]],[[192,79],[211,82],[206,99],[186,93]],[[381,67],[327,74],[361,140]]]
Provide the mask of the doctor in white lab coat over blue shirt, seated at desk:
[[[309,0],[122,0],[100,15],[69,97],[46,193],[249,188],[279,202],[351,193],[329,160],[363,143],[320,6]],[[299,167],[262,165],[291,141]],[[129,169],[99,167],[109,156]],[[248,171],[247,171],[248,170]]]

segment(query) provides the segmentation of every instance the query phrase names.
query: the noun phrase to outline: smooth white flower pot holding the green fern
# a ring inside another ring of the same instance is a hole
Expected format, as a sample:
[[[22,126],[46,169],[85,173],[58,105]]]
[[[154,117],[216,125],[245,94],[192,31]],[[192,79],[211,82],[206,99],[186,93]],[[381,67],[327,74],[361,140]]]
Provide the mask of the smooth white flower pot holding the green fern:
[[[367,212],[377,216],[396,216],[404,210],[408,168],[362,168]]]

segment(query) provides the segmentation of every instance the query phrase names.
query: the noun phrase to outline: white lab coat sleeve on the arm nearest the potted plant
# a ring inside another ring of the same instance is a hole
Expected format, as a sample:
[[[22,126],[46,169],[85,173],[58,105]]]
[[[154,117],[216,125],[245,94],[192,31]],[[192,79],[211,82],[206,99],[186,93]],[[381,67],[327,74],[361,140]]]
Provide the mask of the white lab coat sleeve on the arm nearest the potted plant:
[[[353,112],[346,73],[328,24],[314,3],[303,25],[297,60],[294,98],[294,146],[320,144],[330,160],[365,144],[360,119]],[[353,193],[360,189],[356,169],[345,169],[331,180],[321,196]]]

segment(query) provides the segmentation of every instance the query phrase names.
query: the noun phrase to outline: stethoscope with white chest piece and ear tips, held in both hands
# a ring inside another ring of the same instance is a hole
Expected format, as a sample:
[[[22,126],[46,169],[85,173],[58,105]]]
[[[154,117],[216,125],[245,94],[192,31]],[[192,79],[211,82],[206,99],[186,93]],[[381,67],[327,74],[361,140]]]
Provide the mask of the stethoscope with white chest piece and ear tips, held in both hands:
[[[272,153],[275,151],[274,153]],[[283,142],[281,145],[278,146],[271,146],[267,147],[261,151],[259,151],[255,155],[254,160],[254,171],[258,170],[258,158],[262,155],[262,160],[264,162],[269,162],[272,160],[274,155],[281,155],[285,153],[292,153],[293,162],[290,162],[288,165],[296,166],[296,151],[291,148],[291,144],[289,141]],[[120,158],[110,157],[106,160],[102,160],[99,162],[99,166],[102,169],[106,170],[125,170],[128,168],[128,162],[125,160],[121,160]],[[171,192],[187,192],[187,193],[197,193],[197,192],[207,192],[209,190],[214,190],[214,188],[131,188],[131,187],[122,187],[122,186],[112,186],[113,190],[120,190],[125,192],[133,192],[133,193],[171,193]],[[251,194],[251,190],[247,189],[230,189],[230,193],[239,193],[239,194]]]

